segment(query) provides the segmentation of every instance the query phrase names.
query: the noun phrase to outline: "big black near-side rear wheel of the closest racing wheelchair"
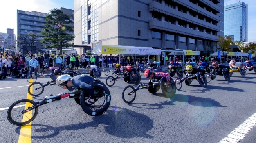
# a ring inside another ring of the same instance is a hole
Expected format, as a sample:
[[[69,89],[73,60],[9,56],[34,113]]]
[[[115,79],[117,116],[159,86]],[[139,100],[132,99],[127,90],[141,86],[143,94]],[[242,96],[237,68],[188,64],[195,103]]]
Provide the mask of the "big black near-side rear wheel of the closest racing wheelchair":
[[[90,99],[88,93],[83,90],[80,95],[80,103],[83,111],[91,116],[102,115],[109,107],[111,96],[108,87],[102,82],[91,82],[89,85],[92,86],[94,92],[94,104],[89,105],[87,100]]]

